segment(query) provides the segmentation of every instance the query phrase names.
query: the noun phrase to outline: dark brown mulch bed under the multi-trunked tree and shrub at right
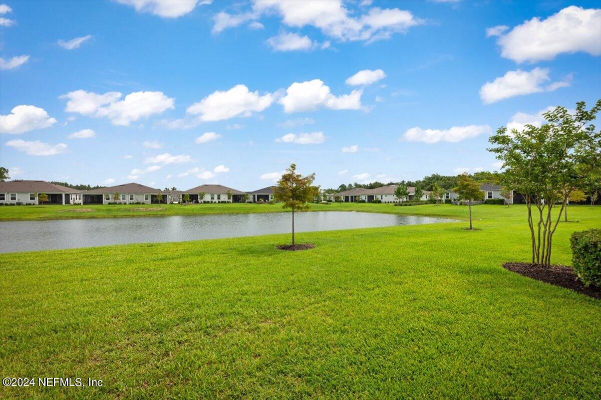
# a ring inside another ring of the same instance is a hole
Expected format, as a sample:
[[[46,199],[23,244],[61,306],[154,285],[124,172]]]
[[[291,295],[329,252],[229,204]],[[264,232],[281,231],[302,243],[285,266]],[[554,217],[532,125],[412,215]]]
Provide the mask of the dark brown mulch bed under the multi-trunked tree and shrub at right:
[[[585,285],[578,279],[572,268],[563,265],[552,265],[549,268],[529,263],[505,263],[505,269],[517,272],[520,275],[537,281],[546,282],[555,286],[565,287],[578,293],[585,294],[595,299],[601,299],[601,287]]]

